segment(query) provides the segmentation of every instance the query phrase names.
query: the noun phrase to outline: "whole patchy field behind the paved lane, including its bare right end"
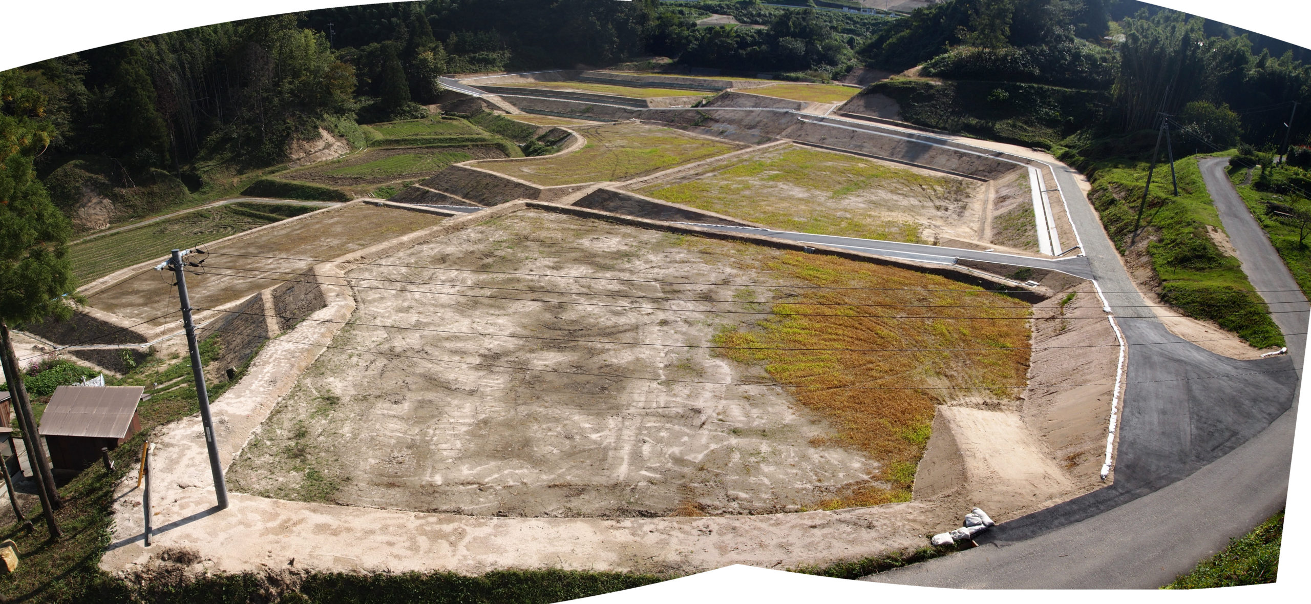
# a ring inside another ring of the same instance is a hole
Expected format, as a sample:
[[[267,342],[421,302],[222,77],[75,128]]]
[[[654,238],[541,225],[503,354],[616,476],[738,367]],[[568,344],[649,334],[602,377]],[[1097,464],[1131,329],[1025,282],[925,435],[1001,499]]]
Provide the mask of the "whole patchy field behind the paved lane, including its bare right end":
[[[978,240],[986,193],[975,181],[801,145],[637,191],[780,231],[928,244]]]

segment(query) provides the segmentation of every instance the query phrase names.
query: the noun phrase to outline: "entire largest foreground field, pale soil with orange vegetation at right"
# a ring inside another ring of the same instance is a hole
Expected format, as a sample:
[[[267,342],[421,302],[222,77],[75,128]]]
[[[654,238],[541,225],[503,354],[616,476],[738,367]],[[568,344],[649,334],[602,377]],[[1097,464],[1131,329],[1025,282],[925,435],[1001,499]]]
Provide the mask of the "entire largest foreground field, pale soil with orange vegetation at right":
[[[1013,299],[536,210],[347,276],[409,291],[355,288],[351,324],[241,451],[232,489],[488,516],[906,500],[933,405],[962,387],[1013,398],[1029,362]],[[914,352],[941,347],[974,352]]]

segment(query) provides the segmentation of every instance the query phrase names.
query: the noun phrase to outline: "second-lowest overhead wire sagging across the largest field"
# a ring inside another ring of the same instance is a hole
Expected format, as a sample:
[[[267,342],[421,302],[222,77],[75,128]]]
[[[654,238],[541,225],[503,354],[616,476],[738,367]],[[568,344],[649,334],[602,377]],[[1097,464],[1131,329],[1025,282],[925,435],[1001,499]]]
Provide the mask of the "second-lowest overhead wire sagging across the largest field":
[[[337,325],[354,325],[361,328],[383,328],[383,329],[402,329],[408,331],[429,331],[429,333],[443,333],[454,335],[482,335],[492,338],[517,338],[517,339],[544,339],[551,342],[578,342],[578,343],[600,343],[600,345],[621,345],[621,346],[658,346],[669,349],[712,349],[712,350],[777,350],[777,351],[812,351],[812,352],[964,352],[964,351],[999,351],[1008,352],[1016,350],[1065,350],[1065,349],[1104,349],[1104,347],[1118,347],[1118,343],[1113,345],[1071,345],[1071,346],[1011,346],[1011,347],[981,347],[981,349],[798,349],[798,347],[771,347],[771,346],[713,346],[713,345],[671,345],[671,343],[658,343],[658,342],[615,342],[607,339],[586,339],[586,338],[557,338],[548,335],[517,335],[517,334],[499,334],[489,331],[459,331],[450,329],[431,329],[431,328],[413,328],[405,325],[380,325],[380,324],[366,324],[355,321],[332,321],[326,318],[308,318],[308,317],[294,317],[287,314],[267,314],[267,313],[252,313],[241,311],[220,311],[216,308],[197,308],[197,311],[214,311],[229,314],[245,314],[252,317],[274,317],[274,318],[291,318],[299,321],[315,321],[326,322]],[[1097,317],[1105,318],[1105,317]],[[203,328],[202,328],[203,329]],[[248,334],[254,335],[254,334]],[[1299,334],[1287,334],[1299,335]],[[1221,341],[1235,341],[1243,338],[1214,338],[1214,339],[1180,339],[1176,342],[1139,342],[1127,343],[1127,346],[1160,346],[1160,345],[1176,345],[1176,343],[1198,343],[1198,342],[1221,342]]]

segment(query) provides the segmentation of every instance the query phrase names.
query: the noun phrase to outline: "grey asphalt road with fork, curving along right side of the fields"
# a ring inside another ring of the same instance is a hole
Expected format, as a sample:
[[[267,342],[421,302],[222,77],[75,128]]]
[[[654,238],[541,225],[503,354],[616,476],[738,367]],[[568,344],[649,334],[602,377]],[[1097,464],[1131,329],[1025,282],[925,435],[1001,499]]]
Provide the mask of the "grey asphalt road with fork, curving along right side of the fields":
[[[1072,170],[1057,166],[1057,178],[1068,195],[1070,216],[1092,271],[1116,316],[1125,317],[1120,321],[1125,338],[1135,345],[1129,351],[1114,483],[999,524],[979,540],[981,548],[867,580],[970,588],[1152,588],[1186,573],[1283,506],[1297,414],[1294,358],[1234,360],[1190,343],[1145,345],[1181,341],[1142,308],[1142,296]],[[1240,257],[1262,254],[1256,252],[1256,241],[1265,241],[1259,228],[1230,229],[1228,219],[1224,227]],[[1273,258],[1277,266],[1244,259],[1243,267],[1253,283],[1261,283],[1257,288],[1295,290],[1278,257]],[[1306,309],[1304,300],[1280,304]],[[1301,359],[1304,338],[1291,334],[1307,330],[1306,313],[1276,317]]]

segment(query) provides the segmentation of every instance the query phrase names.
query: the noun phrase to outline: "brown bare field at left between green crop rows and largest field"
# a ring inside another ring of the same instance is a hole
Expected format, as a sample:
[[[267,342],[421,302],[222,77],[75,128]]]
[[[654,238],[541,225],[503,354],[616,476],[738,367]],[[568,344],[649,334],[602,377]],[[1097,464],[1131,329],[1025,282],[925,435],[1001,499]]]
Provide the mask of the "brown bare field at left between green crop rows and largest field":
[[[363,203],[326,211],[274,225],[214,246],[205,274],[187,278],[191,305],[216,308],[277,286],[270,279],[302,279],[299,273],[315,262],[332,259],[405,233],[431,227],[442,216],[410,212]],[[305,259],[250,258],[219,253],[275,255]],[[166,254],[168,249],[160,249]],[[264,273],[281,271],[281,273]],[[290,273],[290,274],[284,274]],[[267,279],[262,279],[265,276]],[[177,291],[160,273],[146,270],[88,296],[88,305],[135,321],[177,311]],[[160,326],[178,316],[151,321]]]

